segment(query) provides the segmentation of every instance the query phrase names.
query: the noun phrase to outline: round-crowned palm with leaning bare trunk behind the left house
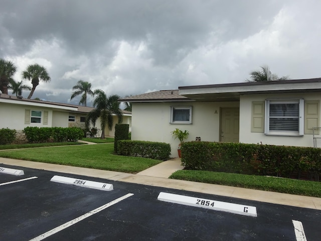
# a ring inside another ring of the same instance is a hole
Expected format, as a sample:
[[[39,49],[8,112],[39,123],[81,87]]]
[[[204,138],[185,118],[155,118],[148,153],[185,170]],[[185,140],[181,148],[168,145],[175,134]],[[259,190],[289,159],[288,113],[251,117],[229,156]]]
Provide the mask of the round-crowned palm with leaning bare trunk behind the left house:
[[[39,85],[39,81],[49,82],[51,80],[46,68],[39,64],[31,64],[25,71],[22,72],[24,79],[31,80],[32,89],[28,96],[28,99],[34,94],[36,87]]]

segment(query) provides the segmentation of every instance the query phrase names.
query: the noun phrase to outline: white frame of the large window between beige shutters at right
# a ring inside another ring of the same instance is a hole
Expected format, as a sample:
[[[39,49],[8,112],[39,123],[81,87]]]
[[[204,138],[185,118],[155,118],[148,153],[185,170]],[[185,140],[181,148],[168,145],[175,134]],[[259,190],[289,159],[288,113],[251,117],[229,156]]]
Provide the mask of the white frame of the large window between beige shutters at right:
[[[299,130],[297,132],[292,131],[270,131],[270,103],[298,103],[299,105]],[[270,136],[303,136],[304,133],[304,99],[266,99],[265,100],[265,125],[264,134]]]

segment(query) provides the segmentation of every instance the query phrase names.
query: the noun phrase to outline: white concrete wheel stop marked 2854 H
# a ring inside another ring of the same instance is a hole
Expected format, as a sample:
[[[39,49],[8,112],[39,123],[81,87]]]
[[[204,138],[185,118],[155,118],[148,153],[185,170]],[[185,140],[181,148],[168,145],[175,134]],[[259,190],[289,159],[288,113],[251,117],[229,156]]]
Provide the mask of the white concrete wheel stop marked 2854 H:
[[[51,178],[52,182],[59,182],[59,183],[65,183],[65,184],[73,184],[76,186],[81,187],[88,187],[93,189],[99,189],[104,191],[111,191],[113,190],[113,185],[108,183],[102,183],[102,182],[93,182],[93,181],[87,181],[83,179],[78,178],[70,178],[70,177],[63,177],[63,176],[53,176]]]

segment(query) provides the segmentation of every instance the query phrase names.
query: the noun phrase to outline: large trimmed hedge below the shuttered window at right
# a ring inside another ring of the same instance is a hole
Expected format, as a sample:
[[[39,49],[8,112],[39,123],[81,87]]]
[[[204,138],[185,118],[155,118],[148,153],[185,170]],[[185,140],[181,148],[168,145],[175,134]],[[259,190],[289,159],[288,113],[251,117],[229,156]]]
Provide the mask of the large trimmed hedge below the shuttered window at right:
[[[182,164],[190,170],[319,180],[321,149],[262,144],[185,142]]]

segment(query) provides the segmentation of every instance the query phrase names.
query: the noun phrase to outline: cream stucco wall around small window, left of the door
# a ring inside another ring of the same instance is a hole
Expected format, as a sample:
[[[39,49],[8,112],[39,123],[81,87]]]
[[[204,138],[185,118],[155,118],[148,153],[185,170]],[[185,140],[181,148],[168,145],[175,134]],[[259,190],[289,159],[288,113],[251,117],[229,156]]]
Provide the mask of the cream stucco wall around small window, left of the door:
[[[171,106],[192,106],[192,124],[170,124]],[[239,107],[238,102],[165,102],[132,103],[131,139],[171,144],[172,157],[177,157],[179,140],[171,132],[176,128],[189,131],[187,141],[220,140],[220,109]]]

